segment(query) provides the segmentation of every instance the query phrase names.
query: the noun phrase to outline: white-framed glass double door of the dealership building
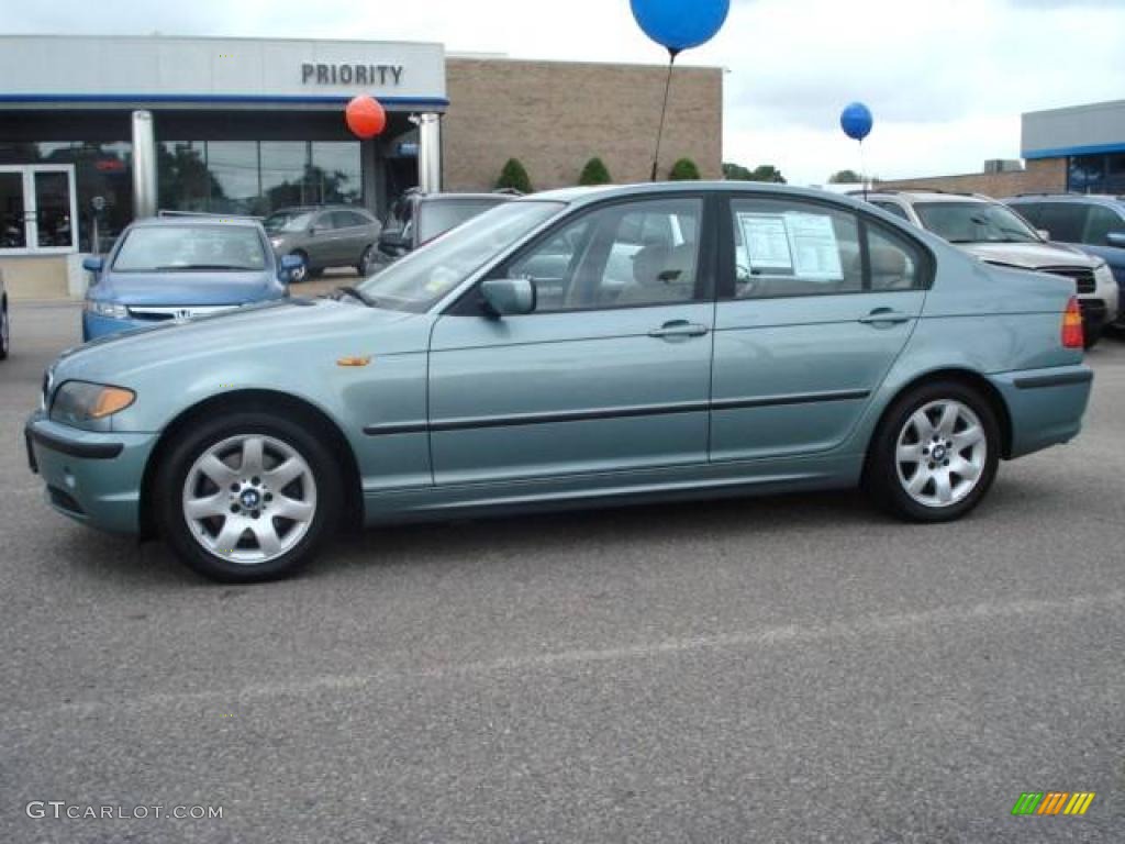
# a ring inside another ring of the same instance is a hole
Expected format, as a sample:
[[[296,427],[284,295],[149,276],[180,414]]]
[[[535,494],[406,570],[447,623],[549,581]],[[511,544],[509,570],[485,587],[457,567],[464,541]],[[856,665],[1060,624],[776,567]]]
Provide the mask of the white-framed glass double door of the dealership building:
[[[72,164],[0,167],[0,254],[78,249]]]

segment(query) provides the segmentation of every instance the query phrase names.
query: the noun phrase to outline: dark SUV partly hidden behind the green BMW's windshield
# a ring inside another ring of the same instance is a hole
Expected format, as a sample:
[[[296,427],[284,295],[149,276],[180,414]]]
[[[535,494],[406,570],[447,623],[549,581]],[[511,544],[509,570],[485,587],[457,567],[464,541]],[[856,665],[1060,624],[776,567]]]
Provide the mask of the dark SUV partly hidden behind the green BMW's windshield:
[[[478,214],[514,199],[518,194],[424,194],[407,190],[395,200],[379,237],[374,269],[387,267],[421,245],[436,240]]]

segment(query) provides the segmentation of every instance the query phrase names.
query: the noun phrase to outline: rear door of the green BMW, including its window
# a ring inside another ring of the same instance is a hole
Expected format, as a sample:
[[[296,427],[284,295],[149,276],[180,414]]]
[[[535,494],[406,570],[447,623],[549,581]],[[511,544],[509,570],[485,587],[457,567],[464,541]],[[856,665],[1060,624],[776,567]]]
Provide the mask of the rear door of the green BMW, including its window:
[[[721,228],[711,459],[831,450],[914,331],[932,258],[813,200],[734,198]]]

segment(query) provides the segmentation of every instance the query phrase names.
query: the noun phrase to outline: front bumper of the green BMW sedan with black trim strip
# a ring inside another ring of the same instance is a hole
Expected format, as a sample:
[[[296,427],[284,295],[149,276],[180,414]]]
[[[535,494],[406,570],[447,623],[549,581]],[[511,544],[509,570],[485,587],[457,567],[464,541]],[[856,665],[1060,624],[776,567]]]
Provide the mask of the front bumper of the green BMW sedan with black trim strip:
[[[24,428],[32,472],[47,503],[84,524],[119,533],[141,529],[141,481],[156,433],[83,431],[38,411]]]

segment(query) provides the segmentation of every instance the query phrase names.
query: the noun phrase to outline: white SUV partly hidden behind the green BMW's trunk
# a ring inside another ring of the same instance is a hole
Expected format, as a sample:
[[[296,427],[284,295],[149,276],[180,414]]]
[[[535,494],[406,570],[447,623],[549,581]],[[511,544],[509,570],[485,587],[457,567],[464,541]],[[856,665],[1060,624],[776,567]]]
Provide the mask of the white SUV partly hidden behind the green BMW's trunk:
[[[1087,348],[1097,343],[1106,324],[1117,318],[1117,284],[1106,262],[1074,246],[1048,243],[1002,203],[966,194],[904,191],[868,194],[867,201],[934,232],[982,261],[1074,279]]]

